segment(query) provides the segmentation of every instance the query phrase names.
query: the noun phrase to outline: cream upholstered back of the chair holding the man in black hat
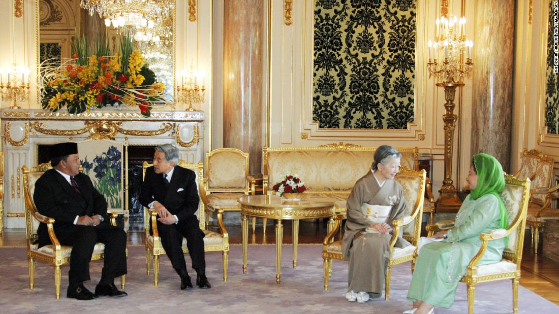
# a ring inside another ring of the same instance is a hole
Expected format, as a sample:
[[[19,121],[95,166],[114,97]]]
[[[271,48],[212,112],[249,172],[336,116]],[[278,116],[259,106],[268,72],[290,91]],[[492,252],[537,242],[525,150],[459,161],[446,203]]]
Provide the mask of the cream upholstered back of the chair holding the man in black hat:
[[[35,207],[33,201],[33,194],[35,193],[35,182],[39,180],[45,171],[51,169],[50,163],[41,163],[32,168],[23,166],[23,201],[25,202],[25,230],[27,236],[28,247],[37,239],[37,228],[39,228],[39,221],[35,215],[40,215]]]

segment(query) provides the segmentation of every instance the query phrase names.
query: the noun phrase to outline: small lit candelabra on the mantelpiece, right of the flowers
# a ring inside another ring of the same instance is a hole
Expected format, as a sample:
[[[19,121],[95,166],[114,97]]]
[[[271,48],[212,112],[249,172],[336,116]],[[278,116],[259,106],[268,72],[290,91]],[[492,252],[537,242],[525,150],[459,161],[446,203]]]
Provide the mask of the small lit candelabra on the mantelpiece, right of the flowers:
[[[198,85],[202,80],[202,85]],[[181,85],[178,82],[181,81]],[[201,104],[204,102],[204,96],[206,93],[206,79],[200,78],[192,69],[190,71],[181,71],[181,76],[177,78],[177,86],[175,88],[175,97],[177,103],[188,104],[187,111],[195,111],[192,108],[193,104]]]

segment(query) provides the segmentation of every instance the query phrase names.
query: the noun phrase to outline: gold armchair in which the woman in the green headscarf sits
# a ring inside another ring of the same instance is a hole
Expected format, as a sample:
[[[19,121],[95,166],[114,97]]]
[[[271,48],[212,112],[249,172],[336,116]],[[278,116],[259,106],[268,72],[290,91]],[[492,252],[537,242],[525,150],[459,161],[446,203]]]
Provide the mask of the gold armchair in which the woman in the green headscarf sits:
[[[475,257],[470,260],[467,272],[461,280],[468,287],[468,314],[473,314],[476,284],[500,279],[511,279],[513,282],[513,312],[518,312],[518,281],[524,246],[530,179],[519,180],[514,176],[505,175],[505,182],[506,186],[501,192],[501,199],[503,199],[508,212],[509,227],[480,235],[481,248]],[[429,236],[432,236],[436,231],[450,228],[452,228],[452,221],[441,221],[438,224],[427,226]],[[497,263],[478,265],[477,263],[485,254],[489,241],[502,239],[505,236],[509,237],[509,241],[503,252],[503,259]]]

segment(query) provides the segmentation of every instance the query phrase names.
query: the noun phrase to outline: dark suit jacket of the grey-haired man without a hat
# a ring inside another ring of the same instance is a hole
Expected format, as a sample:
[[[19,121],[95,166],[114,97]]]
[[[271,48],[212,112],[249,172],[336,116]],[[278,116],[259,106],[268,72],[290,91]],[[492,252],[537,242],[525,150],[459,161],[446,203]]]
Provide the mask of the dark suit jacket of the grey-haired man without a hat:
[[[153,201],[160,202],[171,214],[177,215],[179,223],[191,218],[198,210],[200,202],[196,174],[192,170],[175,166],[167,189],[163,180],[163,173],[155,173],[153,166],[147,168],[141,187],[140,203],[148,207]]]

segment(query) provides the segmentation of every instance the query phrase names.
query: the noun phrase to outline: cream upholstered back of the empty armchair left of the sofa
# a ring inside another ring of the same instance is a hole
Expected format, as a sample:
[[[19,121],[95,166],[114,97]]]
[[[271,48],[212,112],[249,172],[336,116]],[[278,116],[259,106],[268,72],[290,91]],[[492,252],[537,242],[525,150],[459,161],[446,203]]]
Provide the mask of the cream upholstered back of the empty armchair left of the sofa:
[[[218,148],[206,153],[207,192],[248,192],[248,153]]]

